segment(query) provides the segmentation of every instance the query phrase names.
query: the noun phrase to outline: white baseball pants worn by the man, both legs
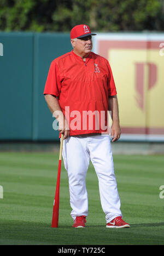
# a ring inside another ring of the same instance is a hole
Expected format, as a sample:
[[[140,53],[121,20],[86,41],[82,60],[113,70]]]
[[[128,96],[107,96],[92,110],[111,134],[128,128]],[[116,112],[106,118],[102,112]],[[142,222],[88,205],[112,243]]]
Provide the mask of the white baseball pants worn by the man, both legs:
[[[88,215],[85,179],[90,160],[98,177],[99,195],[107,223],[122,216],[109,136],[70,136],[63,141],[62,156],[68,173],[72,218]]]

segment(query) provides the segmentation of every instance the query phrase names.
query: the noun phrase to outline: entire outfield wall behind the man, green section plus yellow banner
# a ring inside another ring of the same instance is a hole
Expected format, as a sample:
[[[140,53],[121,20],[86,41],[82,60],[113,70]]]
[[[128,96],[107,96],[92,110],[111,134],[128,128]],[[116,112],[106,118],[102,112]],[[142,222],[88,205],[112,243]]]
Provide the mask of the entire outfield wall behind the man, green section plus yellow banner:
[[[57,140],[43,90],[50,63],[72,49],[69,33],[0,32],[0,140]],[[121,139],[164,141],[164,33],[98,33],[118,91]]]

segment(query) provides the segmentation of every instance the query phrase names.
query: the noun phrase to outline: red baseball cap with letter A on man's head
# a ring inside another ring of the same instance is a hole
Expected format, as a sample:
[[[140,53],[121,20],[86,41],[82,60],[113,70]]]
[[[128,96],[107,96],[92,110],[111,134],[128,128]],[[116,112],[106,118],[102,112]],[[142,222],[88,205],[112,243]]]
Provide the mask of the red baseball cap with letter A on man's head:
[[[96,36],[96,34],[93,34],[91,32],[90,27],[85,24],[81,24],[73,27],[70,33],[71,39],[82,38],[82,37],[91,36],[91,35]]]

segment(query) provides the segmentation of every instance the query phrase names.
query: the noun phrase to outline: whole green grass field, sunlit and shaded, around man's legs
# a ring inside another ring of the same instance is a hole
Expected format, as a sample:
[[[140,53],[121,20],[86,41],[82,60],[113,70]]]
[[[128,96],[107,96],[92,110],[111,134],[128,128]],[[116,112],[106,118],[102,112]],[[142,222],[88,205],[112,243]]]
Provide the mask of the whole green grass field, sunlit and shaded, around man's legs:
[[[58,153],[0,153],[0,244],[164,244],[163,156],[115,155],[124,220],[131,229],[107,229],[98,181],[90,164],[86,184],[89,216],[73,229],[67,173],[61,170],[59,227],[51,228]]]

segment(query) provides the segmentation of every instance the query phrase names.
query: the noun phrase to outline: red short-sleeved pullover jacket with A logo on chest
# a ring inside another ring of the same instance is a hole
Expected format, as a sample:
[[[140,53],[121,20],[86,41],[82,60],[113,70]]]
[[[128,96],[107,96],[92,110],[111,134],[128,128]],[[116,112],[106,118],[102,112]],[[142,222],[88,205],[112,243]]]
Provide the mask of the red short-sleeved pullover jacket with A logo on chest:
[[[107,129],[108,97],[116,95],[107,59],[93,52],[84,62],[72,52],[51,62],[44,94],[55,95],[66,116],[70,136]]]

